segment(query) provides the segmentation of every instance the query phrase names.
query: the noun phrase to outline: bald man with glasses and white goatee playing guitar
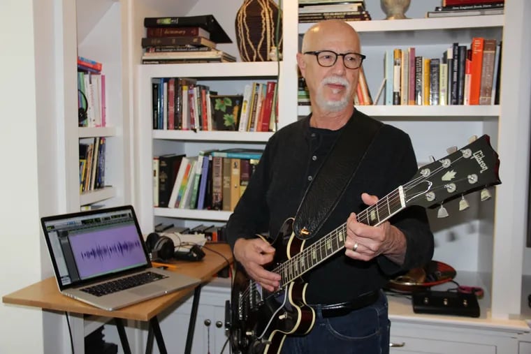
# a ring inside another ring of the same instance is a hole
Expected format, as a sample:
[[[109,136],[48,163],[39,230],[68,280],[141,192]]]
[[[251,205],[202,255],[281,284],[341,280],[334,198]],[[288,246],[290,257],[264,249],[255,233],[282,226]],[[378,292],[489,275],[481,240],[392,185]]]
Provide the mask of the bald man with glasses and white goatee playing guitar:
[[[281,285],[281,276],[264,267],[278,250],[255,235],[267,230],[277,235],[284,220],[296,215],[347,123],[370,119],[354,108],[365,58],[360,53],[358,34],[345,22],[320,22],[307,31],[297,61],[312,115],[272,136],[228,221],[235,259],[268,291]],[[388,353],[387,300],[381,288],[393,274],[428,263],[433,235],[420,207],[409,207],[379,226],[358,222],[356,213],[408,182],[416,169],[409,136],[382,125],[333,212],[305,244],[347,221],[346,250],[303,276],[315,324],[305,336],[287,336],[282,353]]]

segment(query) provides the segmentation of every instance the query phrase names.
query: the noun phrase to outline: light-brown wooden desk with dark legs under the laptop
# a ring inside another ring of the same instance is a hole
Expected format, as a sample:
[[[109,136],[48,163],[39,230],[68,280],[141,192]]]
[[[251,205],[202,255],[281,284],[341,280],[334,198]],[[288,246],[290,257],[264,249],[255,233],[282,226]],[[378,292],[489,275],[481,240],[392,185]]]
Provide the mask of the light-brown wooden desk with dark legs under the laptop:
[[[212,251],[210,251],[212,249]],[[189,276],[194,276],[201,279],[203,283],[212,279],[212,276],[222,270],[227,265],[226,259],[232,263],[233,255],[228,244],[207,244],[203,251],[205,251],[205,258],[198,262],[185,262],[185,261],[174,261],[173,264],[176,265],[176,272],[182,274],[187,274]],[[217,251],[221,253],[225,258],[220,256],[218,253],[213,252]],[[171,268],[169,270],[172,270]],[[170,305],[175,304],[175,302],[182,299],[184,296],[188,295],[191,290],[194,290],[194,301],[192,304],[192,311],[190,316],[190,326],[188,328],[187,344],[184,353],[191,352],[191,342],[194,338],[194,327],[196,324],[196,314],[197,307],[199,304],[199,297],[201,295],[201,285],[185,288],[178,290],[175,293],[170,293],[157,297],[152,300],[147,300],[145,302],[140,302],[138,304],[131,305],[129,307],[124,307],[123,309],[117,309],[115,311],[106,311],[92,307],[89,304],[85,304],[78,300],[73,300],[70,297],[66,297],[59,293],[59,288],[57,288],[57,283],[55,278],[44,279],[38,283],[34,283],[26,288],[10,293],[9,295],[2,297],[2,302],[6,304],[17,304],[23,306],[31,307],[40,307],[45,310],[54,310],[54,311],[67,311],[75,314],[87,314],[87,315],[96,315],[104,316],[109,318],[115,318],[120,339],[122,341],[122,346],[124,346],[124,353],[130,353],[129,344],[127,343],[127,338],[125,336],[125,331],[122,323],[122,319],[125,320],[143,320],[149,321],[150,334],[148,335],[148,346],[152,345],[152,335],[157,339],[159,344],[159,349],[161,353],[166,351],[165,348],[162,349],[163,340],[161,332],[159,329],[159,322],[157,320],[157,315],[161,313],[164,309],[168,308]],[[152,332],[154,331],[154,333]],[[147,349],[146,349],[147,351]]]

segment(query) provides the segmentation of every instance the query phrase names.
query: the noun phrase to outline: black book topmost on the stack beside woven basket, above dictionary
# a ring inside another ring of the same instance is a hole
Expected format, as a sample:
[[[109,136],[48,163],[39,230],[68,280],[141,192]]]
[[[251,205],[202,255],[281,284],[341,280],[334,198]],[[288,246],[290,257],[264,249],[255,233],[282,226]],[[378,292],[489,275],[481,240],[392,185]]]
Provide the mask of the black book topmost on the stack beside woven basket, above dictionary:
[[[210,32],[210,39],[215,43],[232,43],[213,15],[145,17],[144,27],[201,27]]]

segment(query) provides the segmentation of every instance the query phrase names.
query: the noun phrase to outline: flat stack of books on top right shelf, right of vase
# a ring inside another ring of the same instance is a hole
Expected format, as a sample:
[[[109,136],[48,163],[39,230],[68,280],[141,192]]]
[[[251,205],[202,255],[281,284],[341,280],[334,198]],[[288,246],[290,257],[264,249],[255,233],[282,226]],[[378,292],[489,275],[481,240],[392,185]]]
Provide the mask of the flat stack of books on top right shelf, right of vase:
[[[504,0],[443,0],[426,17],[503,15],[504,4]]]

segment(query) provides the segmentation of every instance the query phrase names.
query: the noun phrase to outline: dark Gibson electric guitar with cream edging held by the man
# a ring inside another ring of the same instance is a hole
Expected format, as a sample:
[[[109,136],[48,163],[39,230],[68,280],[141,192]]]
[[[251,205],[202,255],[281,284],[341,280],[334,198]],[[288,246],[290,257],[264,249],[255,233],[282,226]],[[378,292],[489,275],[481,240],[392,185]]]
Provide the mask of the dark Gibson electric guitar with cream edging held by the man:
[[[438,161],[419,168],[406,184],[357,214],[358,221],[377,226],[411,205],[437,207],[443,202],[483,189],[481,200],[489,198],[488,186],[500,184],[500,160],[488,135]],[[229,339],[233,353],[279,353],[286,335],[307,334],[315,323],[314,310],[305,302],[307,283],[300,278],[324,260],[344,249],[347,224],[304,248],[293,235],[293,218],[287,219],[272,243],[277,250],[269,270],[281,275],[279,288],[270,293],[249,279],[237,264],[233,290]],[[289,239],[283,244],[283,239]]]

